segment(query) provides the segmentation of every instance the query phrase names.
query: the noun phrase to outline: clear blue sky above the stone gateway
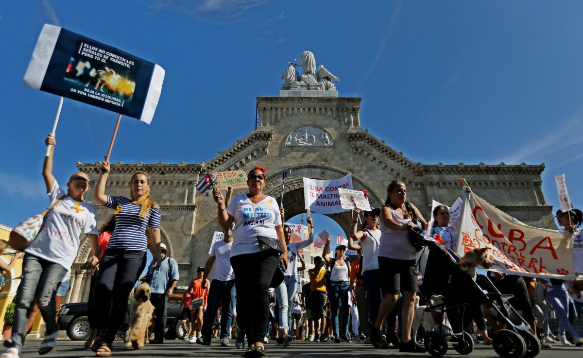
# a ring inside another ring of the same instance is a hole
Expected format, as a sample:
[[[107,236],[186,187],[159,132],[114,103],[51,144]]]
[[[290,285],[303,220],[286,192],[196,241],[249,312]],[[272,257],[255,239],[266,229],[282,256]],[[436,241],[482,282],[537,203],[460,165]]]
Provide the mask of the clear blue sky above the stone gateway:
[[[123,118],[112,162],[200,163],[254,128],[301,52],[363,97],[361,125],[414,162],[545,163],[583,206],[583,3],[577,1],[3,1],[0,223],[47,205],[44,138],[58,104],[22,85],[44,23],[166,69],[151,125]],[[65,99],[54,174],[103,159],[117,115]],[[479,195],[479,193],[477,193]],[[439,200],[439,198],[436,198]],[[450,204],[450,203],[448,203]]]

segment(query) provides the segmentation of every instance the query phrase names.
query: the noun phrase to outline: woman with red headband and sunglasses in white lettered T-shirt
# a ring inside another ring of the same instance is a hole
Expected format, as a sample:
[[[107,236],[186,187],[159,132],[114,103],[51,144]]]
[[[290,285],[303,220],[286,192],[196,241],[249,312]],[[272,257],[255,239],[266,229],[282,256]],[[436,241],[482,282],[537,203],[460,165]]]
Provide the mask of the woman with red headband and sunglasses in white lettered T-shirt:
[[[280,262],[287,268],[287,247],[278,203],[264,194],[265,169],[255,166],[247,177],[249,192],[225,206],[213,189],[217,217],[223,228],[233,227],[231,265],[237,291],[237,320],[247,334],[245,356],[266,355],[264,338],[269,313],[268,288]]]

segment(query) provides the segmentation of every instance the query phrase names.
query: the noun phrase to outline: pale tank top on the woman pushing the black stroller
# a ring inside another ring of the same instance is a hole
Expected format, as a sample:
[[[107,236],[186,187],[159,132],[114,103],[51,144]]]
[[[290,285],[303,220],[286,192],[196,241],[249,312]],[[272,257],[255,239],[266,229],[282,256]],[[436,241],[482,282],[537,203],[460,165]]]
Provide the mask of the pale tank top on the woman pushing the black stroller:
[[[393,210],[392,219],[398,224],[406,224],[411,219],[401,219]],[[381,243],[378,247],[379,257],[398,260],[413,260],[416,257],[415,248],[409,244],[409,230],[391,230],[381,221]]]

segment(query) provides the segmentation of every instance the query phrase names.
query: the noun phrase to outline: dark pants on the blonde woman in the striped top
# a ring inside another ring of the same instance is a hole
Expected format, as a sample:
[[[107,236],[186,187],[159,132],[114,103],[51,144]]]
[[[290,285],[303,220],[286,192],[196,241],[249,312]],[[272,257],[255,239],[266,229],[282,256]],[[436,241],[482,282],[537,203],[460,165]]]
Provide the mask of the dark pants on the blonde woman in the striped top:
[[[103,254],[95,300],[99,314],[97,329],[107,342],[115,339],[128,310],[129,292],[145,266],[146,251],[114,248]]]

